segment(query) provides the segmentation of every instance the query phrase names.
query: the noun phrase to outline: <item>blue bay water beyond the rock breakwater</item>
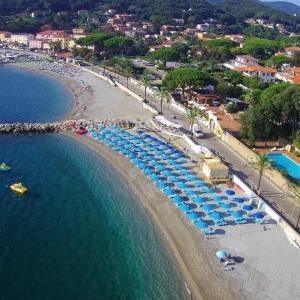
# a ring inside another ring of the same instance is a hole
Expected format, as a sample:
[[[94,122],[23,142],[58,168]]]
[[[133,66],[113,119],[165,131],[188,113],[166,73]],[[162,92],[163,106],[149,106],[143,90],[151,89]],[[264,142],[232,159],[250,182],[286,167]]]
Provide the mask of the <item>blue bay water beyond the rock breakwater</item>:
[[[74,105],[71,92],[54,79],[11,67],[0,67],[0,121],[51,122]]]

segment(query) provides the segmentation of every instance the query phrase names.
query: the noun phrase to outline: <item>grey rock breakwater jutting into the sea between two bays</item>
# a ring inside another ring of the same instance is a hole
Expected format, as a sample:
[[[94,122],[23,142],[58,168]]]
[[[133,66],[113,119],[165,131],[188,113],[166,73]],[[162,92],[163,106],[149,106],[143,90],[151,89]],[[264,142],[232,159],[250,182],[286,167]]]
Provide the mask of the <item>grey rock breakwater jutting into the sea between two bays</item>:
[[[0,124],[0,134],[38,134],[58,132],[65,129],[65,123],[13,123]]]

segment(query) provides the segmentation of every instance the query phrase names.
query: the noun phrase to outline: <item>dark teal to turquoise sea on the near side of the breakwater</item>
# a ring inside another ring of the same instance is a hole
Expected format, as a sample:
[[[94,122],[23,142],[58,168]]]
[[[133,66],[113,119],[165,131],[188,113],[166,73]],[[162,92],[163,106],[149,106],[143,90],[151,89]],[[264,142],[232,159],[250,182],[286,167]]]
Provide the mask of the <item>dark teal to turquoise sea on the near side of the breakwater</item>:
[[[0,161],[12,166],[0,173],[1,300],[186,298],[147,212],[97,154],[61,135],[0,136]],[[16,181],[29,193],[11,192]]]

